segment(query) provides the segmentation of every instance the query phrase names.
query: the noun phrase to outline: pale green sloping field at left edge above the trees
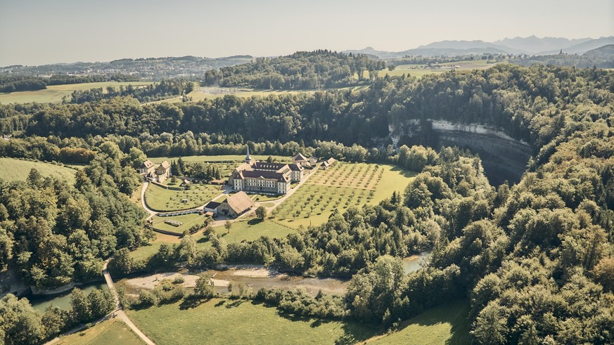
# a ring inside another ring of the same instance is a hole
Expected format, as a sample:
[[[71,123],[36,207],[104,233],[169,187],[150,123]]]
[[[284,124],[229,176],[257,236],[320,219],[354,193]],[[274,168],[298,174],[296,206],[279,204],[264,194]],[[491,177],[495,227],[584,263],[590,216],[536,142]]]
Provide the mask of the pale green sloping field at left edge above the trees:
[[[75,169],[44,162],[0,158],[0,176],[6,181],[25,181],[32,168],[37,169],[44,177],[53,176],[67,181],[70,185],[75,184]]]

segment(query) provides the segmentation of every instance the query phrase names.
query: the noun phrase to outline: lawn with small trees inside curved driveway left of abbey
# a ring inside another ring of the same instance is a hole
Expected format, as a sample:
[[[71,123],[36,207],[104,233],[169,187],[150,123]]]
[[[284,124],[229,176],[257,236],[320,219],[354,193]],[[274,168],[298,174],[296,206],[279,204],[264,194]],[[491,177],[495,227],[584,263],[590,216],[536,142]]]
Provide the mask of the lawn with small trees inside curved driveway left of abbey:
[[[218,185],[193,183],[189,190],[170,190],[149,183],[145,191],[145,202],[155,211],[178,211],[202,206],[220,194],[222,190],[219,190]],[[188,202],[181,202],[183,199]]]

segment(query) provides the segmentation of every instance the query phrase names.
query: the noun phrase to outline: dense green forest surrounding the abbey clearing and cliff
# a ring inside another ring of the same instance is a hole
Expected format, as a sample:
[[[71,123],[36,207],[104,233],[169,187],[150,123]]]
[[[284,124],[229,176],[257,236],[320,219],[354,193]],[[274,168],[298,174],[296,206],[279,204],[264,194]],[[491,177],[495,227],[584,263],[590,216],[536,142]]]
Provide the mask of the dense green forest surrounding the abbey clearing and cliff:
[[[471,334],[480,344],[611,344],[613,104],[613,72],[497,65],[422,79],[377,78],[362,91],[179,105],[122,97],[3,105],[2,129],[23,134],[1,143],[3,155],[48,159],[64,150],[65,157],[89,162],[75,186],[34,172],[27,183],[4,184],[1,238],[12,251],[3,263],[41,286],[87,279],[79,255],[89,255],[88,267],[97,267],[115,253],[110,268],[120,274],[177,262],[264,263],[304,275],[352,277],[343,299],[266,291],[254,297],[302,315],[395,327],[425,308],[466,298]],[[535,157],[520,183],[495,187],[470,152],[388,147],[388,124],[409,119],[494,126],[531,143]],[[128,249],[148,234],[138,225],[142,214],[122,193],[134,190],[130,167],[143,152],[235,152],[245,142],[271,154],[308,150],[392,162],[418,175],[404,193],[335,213],[286,238],[227,244],[205,231],[210,248],[196,250],[196,239],[186,235],[147,262],[131,259]],[[101,206],[69,211],[69,200]],[[106,218],[104,229],[111,230],[98,230]],[[46,242],[37,247],[40,238]],[[77,240],[90,252],[72,251]],[[55,250],[46,250],[49,245]],[[428,265],[405,275],[400,258],[424,249],[433,250]],[[67,263],[48,266],[58,258]]]

